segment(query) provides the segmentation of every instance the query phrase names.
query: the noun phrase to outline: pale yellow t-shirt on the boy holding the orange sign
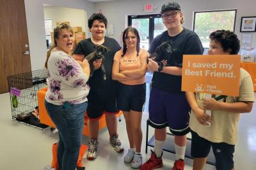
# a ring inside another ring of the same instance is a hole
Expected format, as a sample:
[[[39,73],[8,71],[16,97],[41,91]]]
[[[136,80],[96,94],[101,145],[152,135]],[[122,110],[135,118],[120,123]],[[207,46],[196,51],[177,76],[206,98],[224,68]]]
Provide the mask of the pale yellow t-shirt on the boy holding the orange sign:
[[[246,70],[240,69],[240,89],[239,97],[228,96],[226,102],[254,102],[254,91],[252,78]],[[200,108],[203,107],[204,93],[196,93],[196,102]],[[217,96],[216,96],[217,97]],[[223,102],[223,99],[219,100]],[[206,127],[200,124],[195,117],[193,111],[190,114],[189,127],[196,132],[200,137],[207,139],[213,143],[237,143],[237,126],[240,114],[224,111],[212,111],[213,123],[211,127]]]

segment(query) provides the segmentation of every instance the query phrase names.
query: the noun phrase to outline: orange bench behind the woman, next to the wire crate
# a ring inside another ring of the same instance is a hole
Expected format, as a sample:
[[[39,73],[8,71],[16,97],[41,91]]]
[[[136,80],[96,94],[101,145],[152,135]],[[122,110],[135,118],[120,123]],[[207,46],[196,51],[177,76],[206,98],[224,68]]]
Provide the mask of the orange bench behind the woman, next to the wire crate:
[[[47,88],[42,88],[39,91],[37,91],[37,99],[38,99],[38,109],[39,109],[39,119],[40,123],[48,125],[49,127],[56,128],[54,123],[52,122],[51,118],[49,117],[44,104],[44,98],[46,94]],[[122,111],[120,111],[116,116],[120,117],[123,114]],[[86,113],[84,113],[84,131],[83,135],[88,136],[88,127],[87,127],[87,121],[88,117]],[[102,115],[102,117],[99,120],[99,130],[102,130],[102,128],[106,127],[106,120],[105,120],[105,114]]]

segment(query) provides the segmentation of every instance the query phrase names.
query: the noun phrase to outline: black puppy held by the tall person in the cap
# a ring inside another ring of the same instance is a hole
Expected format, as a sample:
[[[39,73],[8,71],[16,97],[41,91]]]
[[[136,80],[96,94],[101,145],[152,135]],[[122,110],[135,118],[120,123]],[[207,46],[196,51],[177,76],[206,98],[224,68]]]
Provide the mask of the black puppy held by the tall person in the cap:
[[[170,62],[170,59],[172,57],[173,53],[173,42],[163,42],[161,45],[156,47],[155,52],[153,52],[149,58],[154,58],[154,61],[157,62],[159,67],[163,67],[163,63],[161,61],[166,60],[168,63]]]

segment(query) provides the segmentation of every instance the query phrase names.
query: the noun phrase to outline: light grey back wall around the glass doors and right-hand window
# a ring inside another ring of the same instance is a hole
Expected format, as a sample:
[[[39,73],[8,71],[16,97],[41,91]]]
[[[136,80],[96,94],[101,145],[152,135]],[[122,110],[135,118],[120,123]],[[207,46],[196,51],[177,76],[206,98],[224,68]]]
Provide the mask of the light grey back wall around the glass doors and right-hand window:
[[[126,15],[147,14],[143,12],[145,4],[154,4],[157,7],[153,13],[159,13],[161,6],[166,0],[130,0],[130,1],[108,1],[96,3],[96,11],[102,10],[106,15],[109,24],[113,24],[114,35],[111,37],[116,40],[119,39],[120,33],[125,29]],[[176,0],[184,13],[184,27],[192,29],[193,12],[204,10],[223,10],[223,9],[237,9],[235,33],[241,40],[242,33],[240,33],[241,17],[256,16],[255,0]],[[256,33],[252,33],[252,46],[256,47]],[[110,35],[109,35],[110,36]]]

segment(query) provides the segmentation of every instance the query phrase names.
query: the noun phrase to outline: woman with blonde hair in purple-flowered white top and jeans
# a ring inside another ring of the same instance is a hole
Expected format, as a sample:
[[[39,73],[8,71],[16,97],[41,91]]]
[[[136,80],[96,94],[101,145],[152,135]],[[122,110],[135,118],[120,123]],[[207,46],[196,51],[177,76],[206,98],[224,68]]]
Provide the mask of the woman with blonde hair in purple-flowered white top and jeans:
[[[90,66],[84,59],[79,65],[68,54],[72,51],[74,35],[67,24],[54,29],[54,46],[47,52],[48,71],[45,107],[59,130],[58,165],[61,170],[76,169],[82,143],[84,112],[89,87],[86,84]]]

